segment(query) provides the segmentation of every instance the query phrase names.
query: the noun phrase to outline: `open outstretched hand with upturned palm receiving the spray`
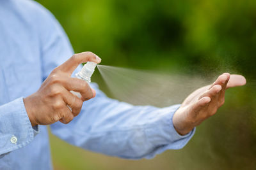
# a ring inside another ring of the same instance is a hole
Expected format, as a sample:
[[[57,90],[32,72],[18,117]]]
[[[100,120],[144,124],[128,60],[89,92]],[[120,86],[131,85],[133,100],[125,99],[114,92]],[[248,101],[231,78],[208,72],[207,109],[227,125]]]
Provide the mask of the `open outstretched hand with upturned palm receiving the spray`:
[[[244,85],[244,76],[224,73],[212,83],[190,94],[173,115],[173,125],[179,134],[188,134],[206,118],[216,113],[225,102],[225,90]]]

